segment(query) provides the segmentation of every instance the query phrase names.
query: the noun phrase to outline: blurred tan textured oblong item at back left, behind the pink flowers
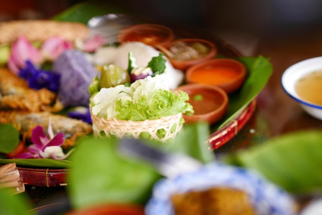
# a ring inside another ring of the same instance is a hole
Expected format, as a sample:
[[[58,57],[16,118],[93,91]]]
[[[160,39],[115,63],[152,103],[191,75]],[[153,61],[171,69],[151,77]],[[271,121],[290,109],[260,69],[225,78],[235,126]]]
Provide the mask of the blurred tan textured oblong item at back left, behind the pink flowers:
[[[53,20],[14,20],[0,23],[0,43],[12,43],[21,35],[28,41],[61,37],[67,41],[84,40],[90,30],[82,23]]]

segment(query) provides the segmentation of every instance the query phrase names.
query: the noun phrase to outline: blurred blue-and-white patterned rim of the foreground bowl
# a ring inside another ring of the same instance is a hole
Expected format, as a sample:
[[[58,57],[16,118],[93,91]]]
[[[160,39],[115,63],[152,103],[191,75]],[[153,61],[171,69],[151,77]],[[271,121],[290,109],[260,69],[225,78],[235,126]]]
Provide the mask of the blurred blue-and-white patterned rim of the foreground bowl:
[[[173,180],[158,181],[146,205],[146,215],[173,215],[171,195],[211,187],[230,187],[244,191],[260,215],[294,215],[292,197],[259,173],[221,163],[211,163],[201,169],[182,174]]]

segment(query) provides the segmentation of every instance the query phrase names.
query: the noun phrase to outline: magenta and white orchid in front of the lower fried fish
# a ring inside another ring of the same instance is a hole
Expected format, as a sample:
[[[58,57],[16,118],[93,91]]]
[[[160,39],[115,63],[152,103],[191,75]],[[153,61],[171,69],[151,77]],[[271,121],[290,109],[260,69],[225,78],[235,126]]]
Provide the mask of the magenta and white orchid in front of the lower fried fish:
[[[49,119],[48,135],[44,133],[44,129],[41,126],[37,126],[32,130],[31,141],[33,142],[27,148],[27,152],[23,152],[13,158],[53,158],[53,159],[65,159],[73,151],[70,150],[67,154],[64,154],[61,145],[64,142],[63,133],[59,133],[56,136],[53,135],[51,123]]]

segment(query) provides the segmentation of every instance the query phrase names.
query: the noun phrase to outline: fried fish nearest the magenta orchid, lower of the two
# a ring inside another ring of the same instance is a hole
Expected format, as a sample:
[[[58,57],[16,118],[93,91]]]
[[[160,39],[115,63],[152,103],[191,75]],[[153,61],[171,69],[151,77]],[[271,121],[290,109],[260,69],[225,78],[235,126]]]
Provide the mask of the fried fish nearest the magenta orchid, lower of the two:
[[[20,132],[25,141],[30,141],[32,130],[36,126],[42,126],[46,133],[49,118],[53,133],[58,134],[62,132],[64,134],[62,145],[64,149],[74,146],[78,137],[92,133],[92,125],[90,123],[63,115],[49,112],[0,111],[0,124],[12,124]]]

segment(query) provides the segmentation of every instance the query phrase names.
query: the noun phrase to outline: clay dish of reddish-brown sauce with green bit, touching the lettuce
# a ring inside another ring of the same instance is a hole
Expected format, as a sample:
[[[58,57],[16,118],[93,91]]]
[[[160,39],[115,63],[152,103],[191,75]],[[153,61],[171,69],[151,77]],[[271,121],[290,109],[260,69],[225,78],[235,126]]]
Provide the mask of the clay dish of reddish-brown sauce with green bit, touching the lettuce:
[[[183,115],[186,123],[206,121],[213,124],[227,112],[228,95],[222,88],[208,84],[185,84],[177,88],[186,92],[193,106],[192,115]]]

